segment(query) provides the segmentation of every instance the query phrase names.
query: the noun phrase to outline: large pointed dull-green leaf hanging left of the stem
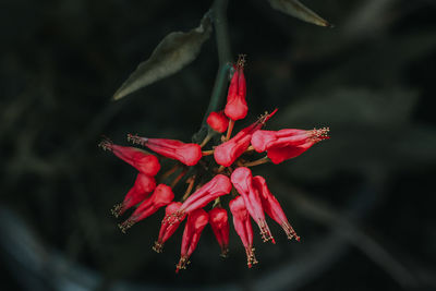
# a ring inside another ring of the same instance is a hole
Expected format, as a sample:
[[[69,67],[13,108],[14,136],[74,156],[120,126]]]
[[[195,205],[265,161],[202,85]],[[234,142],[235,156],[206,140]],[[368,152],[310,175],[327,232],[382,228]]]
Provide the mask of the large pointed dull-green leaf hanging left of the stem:
[[[173,32],[156,47],[152,56],[129,76],[113,95],[118,100],[156,81],[174,74],[197,57],[202,45],[209,38],[211,22],[206,14],[199,26],[187,33]]]

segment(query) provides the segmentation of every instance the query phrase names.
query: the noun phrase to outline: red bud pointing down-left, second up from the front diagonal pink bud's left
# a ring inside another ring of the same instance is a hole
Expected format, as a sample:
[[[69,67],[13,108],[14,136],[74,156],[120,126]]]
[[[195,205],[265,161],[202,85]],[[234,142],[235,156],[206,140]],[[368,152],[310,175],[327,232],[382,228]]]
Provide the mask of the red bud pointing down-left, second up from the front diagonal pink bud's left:
[[[134,223],[140,220],[143,220],[154,213],[156,213],[160,207],[168,205],[174,198],[174,194],[170,186],[166,184],[159,184],[156,186],[155,192],[153,192],[152,196],[144,201],[136,210],[129,217],[128,220],[120,223],[119,227],[122,232],[125,232],[130,229]]]

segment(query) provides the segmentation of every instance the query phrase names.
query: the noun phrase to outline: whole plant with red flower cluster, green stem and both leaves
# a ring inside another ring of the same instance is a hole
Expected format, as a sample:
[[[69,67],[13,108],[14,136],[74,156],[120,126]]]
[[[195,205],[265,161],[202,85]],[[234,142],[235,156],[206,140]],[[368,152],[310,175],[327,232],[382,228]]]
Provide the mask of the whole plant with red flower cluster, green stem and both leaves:
[[[272,9],[302,21],[331,27],[327,21],[299,1],[269,2]],[[199,131],[192,136],[192,143],[128,134],[128,142],[143,148],[116,145],[108,138],[99,144],[138,171],[132,189],[122,203],[112,209],[117,218],[131,211],[124,222],[119,225],[122,232],[165,207],[160,231],[153,246],[154,251],[161,253],[164,244],[185,221],[177,272],[186,268],[207,225],[210,225],[216,237],[220,255],[228,255],[231,233],[229,210],[235,233],[245,248],[249,268],[257,264],[253,247],[252,219],[264,242],[276,243],[267,216],[280,225],[289,240],[300,241],[277,197],[269,191],[266,180],[261,175],[253,177],[250,168],[295,158],[316,143],[329,138],[328,128],[264,130],[277,109],[261,114],[251,125],[233,134],[235,122],[247,117],[249,105],[244,75],[245,56],[240,54],[234,63],[230,61],[227,5],[227,0],[215,0],[198,27],[186,33],[167,35],[150,58],[141,63],[113,95],[113,99],[118,100],[178,72],[197,57],[202,45],[215,29],[219,69],[209,107]],[[256,153],[263,156],[256,157]],[[251,160],[253,157],[256,158]],[[164,160],[166,161],[162,162]],[[181,187],[182,191],[179,191]]]

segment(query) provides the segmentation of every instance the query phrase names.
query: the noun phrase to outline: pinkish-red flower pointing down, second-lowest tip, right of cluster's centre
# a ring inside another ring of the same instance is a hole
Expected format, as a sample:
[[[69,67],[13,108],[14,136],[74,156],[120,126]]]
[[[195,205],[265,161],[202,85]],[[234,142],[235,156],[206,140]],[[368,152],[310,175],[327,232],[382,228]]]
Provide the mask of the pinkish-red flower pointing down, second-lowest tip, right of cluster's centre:
[[[234,230],[238,232],[245,247],[246,265],[251,268],[252,265],[257,264],[257,260],[254,256],[252,222],[250,221],[249,211],[246,210],[242,196],[230,201],[229,208],[233,215]]]

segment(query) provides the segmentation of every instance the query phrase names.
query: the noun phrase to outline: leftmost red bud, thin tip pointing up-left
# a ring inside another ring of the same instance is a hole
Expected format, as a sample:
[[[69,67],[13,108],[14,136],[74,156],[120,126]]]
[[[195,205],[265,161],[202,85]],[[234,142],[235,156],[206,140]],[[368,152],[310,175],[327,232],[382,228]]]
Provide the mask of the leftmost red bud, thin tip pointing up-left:
[[[142,173],[155,177],[160,170],[158,158],[146,150],[116,145],[109,140],[102,141],[99,146],[112,151],[117,157],[135,167]]]

